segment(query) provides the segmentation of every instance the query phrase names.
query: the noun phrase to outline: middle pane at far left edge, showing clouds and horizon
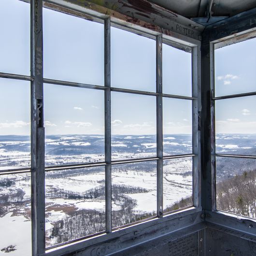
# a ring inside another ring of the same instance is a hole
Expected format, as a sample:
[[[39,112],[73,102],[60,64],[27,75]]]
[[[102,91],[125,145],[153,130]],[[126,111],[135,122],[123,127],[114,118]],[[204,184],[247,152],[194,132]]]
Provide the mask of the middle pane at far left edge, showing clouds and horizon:
[[[0,78],[0,169],[30,166],[30,83]]]

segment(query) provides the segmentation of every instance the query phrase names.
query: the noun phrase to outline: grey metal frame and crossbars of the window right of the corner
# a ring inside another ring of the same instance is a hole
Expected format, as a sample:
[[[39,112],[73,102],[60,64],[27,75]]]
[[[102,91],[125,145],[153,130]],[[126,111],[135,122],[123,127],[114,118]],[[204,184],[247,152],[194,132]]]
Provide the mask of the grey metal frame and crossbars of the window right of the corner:
[[[239,94],[230,94],[215,97],[215,73],[214,73],[214,51],[220,47],[225,47],[231,45],[233,43],[239,43],[242,41],[250,40],[256,37],[256,28],[251,28],[248,30],[243,30],[240,33],[228,35],[225,38],[217,39],[209,42],[209,58],[210,58],[210,102],[211,102],[211,187],[212,187],[212,200],[211,200],[211,208],[205,208],[205,220],[207,225],[217,230],[234,230],[234,235],[242,236],[244,239],[253,241],[256,239],[256,219],[250,218],[242,215],[238,215],[235,213],[224,212],[218,210],[216,207],[216,157],[231,157],[231,158],[247,158],[247,159],[256,159],[256,156],[252,155],[233,155],[233,154],[218,154],[215,151],[216,143],[215,143],[215,101],[216,100],[226,100],[226,99],[234,99],[241,97],[250,97],[256,96],[256,92],[247,92],[247,93],[239,93]],[[223,228],[223,226],[226,227]],[[228,228],[228,229],[227,229]],[[226,231],[225,231],[226,232]],[[244,234],[246,233],[246,235]],[[242,234],[242,235],[241,235]]]

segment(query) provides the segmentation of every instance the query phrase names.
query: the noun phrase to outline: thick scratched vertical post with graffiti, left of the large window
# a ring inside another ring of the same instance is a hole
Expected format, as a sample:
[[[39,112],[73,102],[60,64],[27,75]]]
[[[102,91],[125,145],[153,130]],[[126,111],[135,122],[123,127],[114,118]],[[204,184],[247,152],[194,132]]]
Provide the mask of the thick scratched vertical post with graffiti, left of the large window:
[[[38,256],[45,253],[43,2],[31,0],[30,10],[32,255]]]

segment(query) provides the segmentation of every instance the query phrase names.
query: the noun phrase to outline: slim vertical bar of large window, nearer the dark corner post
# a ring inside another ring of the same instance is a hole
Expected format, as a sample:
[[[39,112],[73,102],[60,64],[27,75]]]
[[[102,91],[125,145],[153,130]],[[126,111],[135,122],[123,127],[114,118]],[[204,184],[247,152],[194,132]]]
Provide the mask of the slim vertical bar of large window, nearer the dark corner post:
[[[162,35],[156,36],[156,155],[157,216],[163,216],[163,96],[162,96]]]

